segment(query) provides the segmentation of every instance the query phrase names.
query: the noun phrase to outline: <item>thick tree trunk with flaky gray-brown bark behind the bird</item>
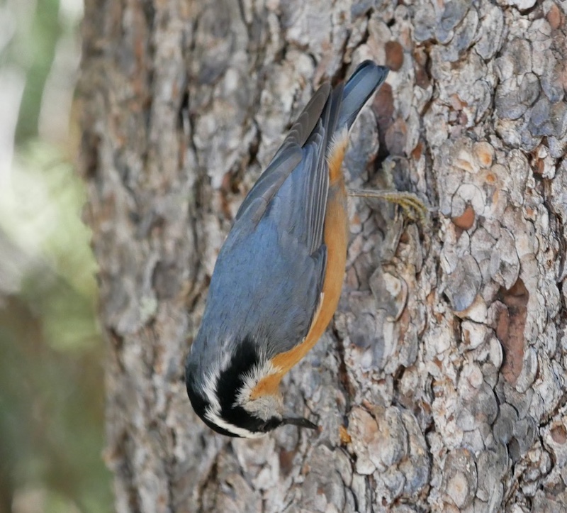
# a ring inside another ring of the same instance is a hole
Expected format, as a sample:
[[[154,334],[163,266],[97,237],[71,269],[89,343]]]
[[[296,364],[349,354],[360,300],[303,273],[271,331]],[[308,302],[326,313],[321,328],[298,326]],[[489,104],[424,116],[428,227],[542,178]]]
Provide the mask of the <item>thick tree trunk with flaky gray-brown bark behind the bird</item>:
[[[116,505],[560,512],[567,504],[567,2],[86,0],[82,171]],[[284,381],[322,431],[215,436],[184,358],[245,192],[323,79],[393,72],[354,126],[332,326]],[[343,429],[343,427],[344,429]]]

